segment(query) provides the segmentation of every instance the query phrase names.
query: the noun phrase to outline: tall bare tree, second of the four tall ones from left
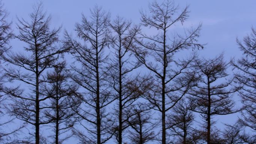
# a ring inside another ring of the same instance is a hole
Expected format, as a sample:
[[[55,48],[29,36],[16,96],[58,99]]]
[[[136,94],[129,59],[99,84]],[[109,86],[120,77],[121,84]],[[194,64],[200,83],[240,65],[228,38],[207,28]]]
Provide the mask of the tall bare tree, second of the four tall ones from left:
[[[113,136],[113,122],[108,117],[106,107],[115,100],[107,83],[108,53],[104,51],[112,41],[110,13],[98,6],[90,12],[90,19],[82,15],[82,22],[76,24],[75,29],[84,45],[66,33],[66,46],[71,48],[77,64],[71,66],[70,77],[82,88],[76,93],[82,103],[73,109],[82,119],[80,125],[89,133],[83,134],[79,129],[74,129],[74,134],[81,143],[103,144]]]

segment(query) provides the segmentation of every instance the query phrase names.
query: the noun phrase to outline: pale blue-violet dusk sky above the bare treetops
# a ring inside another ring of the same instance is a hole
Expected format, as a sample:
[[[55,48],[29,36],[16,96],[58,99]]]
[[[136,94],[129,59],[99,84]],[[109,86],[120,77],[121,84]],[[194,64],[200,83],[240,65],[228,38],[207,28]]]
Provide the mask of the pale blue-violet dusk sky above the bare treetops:
[[[9,21],[13,22],[14,33],[17,17],[28,19],[32,6],[37,0],[2,0],[9,12]],[[69,33],[74,34],[74,24],[81,21],[81,14],[89,16],[89,8],[95,4],[110,11],[112,19],[116,15],[131,20],[134,24],[140,23],[139,10],[147,10],[152,0],[43,0],[48,14],[52,16],[53,27],[63,25]],[[158,0],[159,2],[163,0]],[[224,52],[225,58],[239,58],[242,53],[238,49],[236,39],[242,40],[250,34],[251,27],[256,27],[255,0],[176,0],[180,8],[189,5],[189,19],[180,28],[190,28],[202,23],[199,42],[206,44],[198,53],[206,58],[214,57]],[[178,26],[179,29],[179,26]],[[12,40],[14,51],[22,50],[24,43]],[[68,59],[68,58],[67,58]],[[237,114],[217,117],[218,125],[234,122]],[[109,141],[107,144],[113,142]]]

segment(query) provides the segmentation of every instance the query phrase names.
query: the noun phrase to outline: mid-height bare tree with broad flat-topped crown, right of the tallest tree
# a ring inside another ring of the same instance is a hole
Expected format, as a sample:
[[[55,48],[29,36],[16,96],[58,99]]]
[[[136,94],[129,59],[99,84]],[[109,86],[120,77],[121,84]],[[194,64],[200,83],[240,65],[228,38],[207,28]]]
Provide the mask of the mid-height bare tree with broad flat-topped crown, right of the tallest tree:
[[[198,75],[201,76],[198,84],[189,90],[189,100],[192,104],[192,111],[199,113],[202,117],[203,132],[206,135],[207,144],[213,144],[217,133],[212,132],[214,124],[213,116],[236,113],[235,102],[232,94],[237,92],[238,88],[232,87],[233,79],[228,78],[226,72],[228,63],[223,60],[223,55],[213,59],[195,59],[195,68],[198,69]],[[224,82],[222,79],[227,79]],[[212,132],[212,133],[211,133]]]

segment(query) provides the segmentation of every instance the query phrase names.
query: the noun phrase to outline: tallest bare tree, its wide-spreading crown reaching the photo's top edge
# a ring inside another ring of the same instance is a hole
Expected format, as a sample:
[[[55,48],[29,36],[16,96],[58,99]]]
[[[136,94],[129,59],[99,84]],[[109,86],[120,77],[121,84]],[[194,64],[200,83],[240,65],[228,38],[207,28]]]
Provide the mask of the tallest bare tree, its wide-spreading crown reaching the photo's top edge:
[[[141,12],[141,25],[152,28],[158,33],[148,36],[139,32],[134,52],[140,61],[154,77],[154,89],[146,99],[161,113],[162,144],[167,143],[166,114],[186,94],[193,84],[193,74],[187,73],[191,59],[179,60],[175,56],[181,50],[202,48],[197,43],[201,25],[185,35],[177,34],[171,39],[168,30],[177,22],[183,23],[188,18],[188,7],[177,12],[175,4],[166,0],[159,4],[154,1],[149,6],[150,15]]]

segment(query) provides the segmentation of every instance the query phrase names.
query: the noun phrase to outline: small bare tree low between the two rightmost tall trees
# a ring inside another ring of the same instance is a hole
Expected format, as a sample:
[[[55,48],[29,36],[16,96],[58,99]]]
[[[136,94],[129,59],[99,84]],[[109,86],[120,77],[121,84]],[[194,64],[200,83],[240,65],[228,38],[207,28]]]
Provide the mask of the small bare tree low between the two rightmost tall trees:
[[[132,113],[134,115],[127,120],[128,125],[131,127],[129,130],[131,144],[146,144],[155,140],[156,135],[153,130],[156,124],[152,123],[150,109],[147,104],[138,103],[132,105]]]

